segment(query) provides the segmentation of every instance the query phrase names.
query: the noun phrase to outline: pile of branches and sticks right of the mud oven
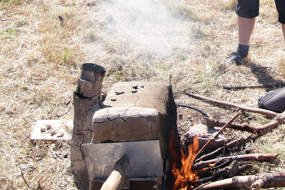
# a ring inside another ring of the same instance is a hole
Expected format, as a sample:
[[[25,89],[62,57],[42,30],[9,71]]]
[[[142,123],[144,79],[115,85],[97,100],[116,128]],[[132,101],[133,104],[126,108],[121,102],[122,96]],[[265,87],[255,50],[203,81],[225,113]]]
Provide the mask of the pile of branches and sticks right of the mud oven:
[[[256,175],[242,176],[245,170],[251,167],[249,161],[272,161],[275,160],[278,154],[244,154],[234,155],[229,157],[215,158],[207,160],[208,157],[216,155],[219,151],[241,141],[243,136],[230,143],[225,144],[223,147],[215,150],[214,152],[204,154],[201,153],[206,147],[215,141],[219,134],[222,133],[226,128],[232,128],[240,131],[247,131],[256,135],[264,135],[268,131],[278,127],[284,123],[285,113],[275,113],[272,111],[249,108],[225,101],[218,101],[215,99],[207,98],[194,93],[186,93],[188,96],[194,97],[199,100],[207,101],[209,103],[229,106],[238,108],[239,112],[228,122],[215,120],[209,113],[192,106],[177,105],[180,107],[187,107],[201,112],[205,117],[207,127],[222,127],[218,133],[210,139],[196,154],[195,162],[192,166],[192,171],[195,171],[199,176],[199,179],[194,183],[196,184],[195,190],[210,190],[210,189],[229,189],[229,188],[248,188],[256,190],[259,188],[277,188],[285,187],[285,173],[273,173],[273,172],[262,172]],[[241,111],[253,112],[271,117],[273,120],[269,124],[265,124],[261,127],[254,127],[242,121],[242,124],[235,124],[233,121],[240,115]],[[191,182],[193,183],[193,182]],[[191,184],[193,185],[193,184]],[[188,185],[190,186],[190,182]]]

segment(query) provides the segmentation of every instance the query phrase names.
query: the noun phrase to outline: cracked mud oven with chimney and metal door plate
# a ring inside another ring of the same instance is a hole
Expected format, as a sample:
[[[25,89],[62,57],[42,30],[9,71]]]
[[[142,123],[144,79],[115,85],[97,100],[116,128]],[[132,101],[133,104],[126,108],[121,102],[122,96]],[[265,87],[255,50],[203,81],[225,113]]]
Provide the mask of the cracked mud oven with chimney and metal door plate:
[[[119,82],[103,103],[105,69],[85,64],[74,92],[70,153],[74,182],[85,189],[100,189],[116,159],[126,153],[129,189],[170,189],[170,133],[178,136],[171,85]]]

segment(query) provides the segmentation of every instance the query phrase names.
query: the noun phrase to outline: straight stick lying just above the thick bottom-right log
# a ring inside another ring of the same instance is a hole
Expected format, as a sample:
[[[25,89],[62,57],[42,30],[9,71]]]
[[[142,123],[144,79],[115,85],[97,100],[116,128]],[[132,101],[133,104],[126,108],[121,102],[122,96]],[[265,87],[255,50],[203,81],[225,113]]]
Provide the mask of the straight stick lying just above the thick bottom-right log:
[[[236,161],[248,161],[248,160],[255,160],[255,161],[268,161],[268,160],[275,160],[279,154],[244,154],[244,155],[237,155],[237,156],[228,156],[228,157],[221,157],[215,158],[212,160],[207,161],[200,161],[192,166],[192,170],[196,171],[198,169],[203,169],[209,167],[209,164],[215,164],[216,162],[222,163],[226,162],[227,160],[236,160]]]

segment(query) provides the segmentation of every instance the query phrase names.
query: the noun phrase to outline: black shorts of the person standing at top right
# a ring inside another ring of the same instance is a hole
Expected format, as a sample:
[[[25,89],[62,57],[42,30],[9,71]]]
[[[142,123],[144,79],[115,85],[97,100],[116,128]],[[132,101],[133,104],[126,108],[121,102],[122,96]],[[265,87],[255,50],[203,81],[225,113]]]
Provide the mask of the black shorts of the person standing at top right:
[[[285,24],[285,0],[275,0],[278,21]],[[259,15],[259,0],[237,0],[235,12],[244,18],[254,18]]]

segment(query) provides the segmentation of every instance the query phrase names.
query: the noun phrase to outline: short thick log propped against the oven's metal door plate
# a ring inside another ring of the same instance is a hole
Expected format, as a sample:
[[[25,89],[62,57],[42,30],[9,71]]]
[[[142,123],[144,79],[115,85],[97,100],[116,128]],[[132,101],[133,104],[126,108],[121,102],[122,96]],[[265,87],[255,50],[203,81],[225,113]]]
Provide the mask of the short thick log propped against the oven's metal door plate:
[[[129,159],[126,154],[118,160],[115,165],[112,173],[102,185],[101,190],[119,190],[129,188],[130,181],[129,178],[126,177],[126,169],[129,165]],[[124,186],[124,187],[122,187]]]

